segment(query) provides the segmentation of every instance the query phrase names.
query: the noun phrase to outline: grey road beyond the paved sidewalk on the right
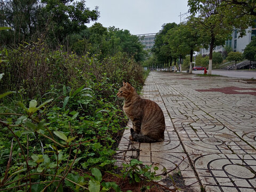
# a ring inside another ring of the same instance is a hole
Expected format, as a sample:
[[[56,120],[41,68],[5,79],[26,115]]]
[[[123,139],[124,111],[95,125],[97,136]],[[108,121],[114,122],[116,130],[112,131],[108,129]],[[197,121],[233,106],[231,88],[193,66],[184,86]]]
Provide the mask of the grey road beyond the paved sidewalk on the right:
[[[185,71],[186,72],[186,71]],[[192,71],[193,74],[204,74],[203,70]],[[256,71],[244,71],[244,70],[212,70],[212,75],[221,75],[225,77],[237,77],[237,78],[256,78]]]

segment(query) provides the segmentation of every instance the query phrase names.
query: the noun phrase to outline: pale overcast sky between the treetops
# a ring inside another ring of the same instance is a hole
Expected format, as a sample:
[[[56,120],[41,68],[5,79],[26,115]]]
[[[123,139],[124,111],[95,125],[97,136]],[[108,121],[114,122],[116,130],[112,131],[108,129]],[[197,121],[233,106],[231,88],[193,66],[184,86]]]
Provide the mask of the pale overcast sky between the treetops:
[[[90,10],[99,6],[104,27],[130,30],[133,35],[157,33],[164,23],[180,23],[180,15],[188,12],[187,0],[86,0]],[[186,18],[186,15],[181,19]],[[88,27],[92,26],[91,22]]]

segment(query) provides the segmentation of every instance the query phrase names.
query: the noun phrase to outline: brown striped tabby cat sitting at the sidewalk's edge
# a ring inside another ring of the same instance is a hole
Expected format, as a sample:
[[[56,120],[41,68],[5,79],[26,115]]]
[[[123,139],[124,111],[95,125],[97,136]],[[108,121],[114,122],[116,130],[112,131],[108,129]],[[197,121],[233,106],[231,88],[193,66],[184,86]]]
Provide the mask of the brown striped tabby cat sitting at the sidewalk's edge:
[[[164,114],[157,103],[140,98],[127,82],[123,82],[116,95],[124,99],[124,113],[132,121],[130,140],[149,143],[164,140]]]

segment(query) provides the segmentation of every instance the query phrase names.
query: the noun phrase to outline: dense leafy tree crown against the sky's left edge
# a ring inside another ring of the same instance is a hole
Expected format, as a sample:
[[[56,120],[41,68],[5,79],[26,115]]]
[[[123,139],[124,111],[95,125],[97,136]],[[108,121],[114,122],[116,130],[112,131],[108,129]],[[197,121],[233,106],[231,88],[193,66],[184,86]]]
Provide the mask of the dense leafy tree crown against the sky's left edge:
[[[69,34],[86,29],[85,24],[96,21],[99,17],[98,7],[90,10],[85,1],[42,0],[46,5],[40,13],[39,25],[48,29],[51,42],[61,43]]]

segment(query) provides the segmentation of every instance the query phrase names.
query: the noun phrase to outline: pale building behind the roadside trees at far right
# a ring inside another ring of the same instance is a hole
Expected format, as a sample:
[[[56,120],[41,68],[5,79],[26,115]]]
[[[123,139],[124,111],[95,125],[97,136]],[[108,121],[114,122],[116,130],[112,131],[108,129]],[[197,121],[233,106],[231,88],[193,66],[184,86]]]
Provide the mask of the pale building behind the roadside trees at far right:
[[[246,30],[245,36],[243,37],[239,37],[239,33],[237,33],[237,30],[233,31],[231,36],[232,39],[227,40],[224,46],[216,46],[214,47],[213,51],[223,52],[225,51],[225,46],[231,46],[234,52],[244,52],[246,45],[248,45],[251,42],[252,37],[256,36],[256,27],[249,27]],[[209,53],[210,47],[208,49],[200,49],[200,54],[202,55],[209,55]]]

